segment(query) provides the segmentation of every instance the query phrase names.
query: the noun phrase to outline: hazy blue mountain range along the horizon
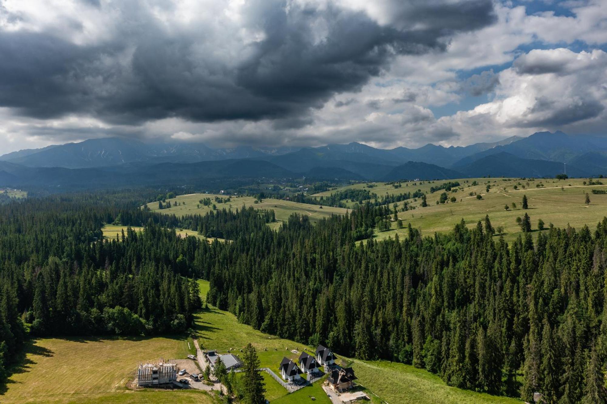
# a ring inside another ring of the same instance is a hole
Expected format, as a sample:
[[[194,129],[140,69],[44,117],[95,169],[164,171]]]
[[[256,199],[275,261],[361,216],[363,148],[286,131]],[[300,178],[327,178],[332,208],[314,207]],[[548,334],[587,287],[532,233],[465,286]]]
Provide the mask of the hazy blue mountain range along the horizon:
[[[537,132],[465,147],[427,144],[376,149],[361,143],[321,147],[144,143],[99,138],[0,156],[0,186],[112,186],[193,183],[209,178],[396,181],[462,177],[572,177],[607,174],[607,138]]]

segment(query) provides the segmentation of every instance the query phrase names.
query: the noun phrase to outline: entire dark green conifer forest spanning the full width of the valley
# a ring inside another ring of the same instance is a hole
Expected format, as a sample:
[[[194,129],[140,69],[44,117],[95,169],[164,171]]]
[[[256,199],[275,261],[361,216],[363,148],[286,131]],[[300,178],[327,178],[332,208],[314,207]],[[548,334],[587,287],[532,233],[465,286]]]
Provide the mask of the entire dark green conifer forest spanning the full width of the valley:
[[[490,218],[450,234],[376,242],[390,215],[363,204],[313,225],[217,210],[177,218],[124,195],[0,206],[0,375],[32,335],[185,331],[207,300],[268,334],[359,359],[410,363],[460,388],[548,402],[605,402],[607,218],[594,229],[493,236]],[[101,226],[121,223],[118,240]],[[231,241],[181,238],[175,227]]]

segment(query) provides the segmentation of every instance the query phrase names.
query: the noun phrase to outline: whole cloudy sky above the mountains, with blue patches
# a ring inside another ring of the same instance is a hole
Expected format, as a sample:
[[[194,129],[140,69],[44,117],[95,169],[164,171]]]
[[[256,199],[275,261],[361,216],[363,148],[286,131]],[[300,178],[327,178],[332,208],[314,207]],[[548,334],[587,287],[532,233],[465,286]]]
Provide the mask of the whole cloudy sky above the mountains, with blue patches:
[[[0,154],[607,135],[605,0],[0,0]]]

